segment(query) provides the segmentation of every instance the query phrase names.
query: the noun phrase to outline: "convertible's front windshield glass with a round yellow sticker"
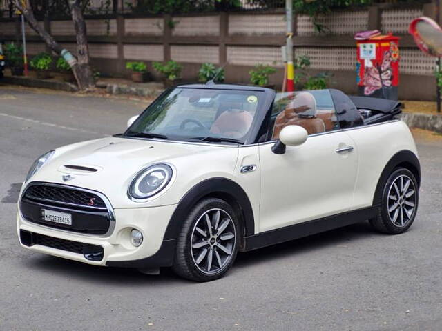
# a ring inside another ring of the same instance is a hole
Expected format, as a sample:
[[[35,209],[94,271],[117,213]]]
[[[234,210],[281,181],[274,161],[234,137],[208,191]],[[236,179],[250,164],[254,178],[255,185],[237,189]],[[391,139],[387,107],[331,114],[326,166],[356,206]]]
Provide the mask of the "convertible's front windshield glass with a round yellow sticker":
[[[175,88],[148,106],[125,135],[244,143],[260,99],[260,91]]]

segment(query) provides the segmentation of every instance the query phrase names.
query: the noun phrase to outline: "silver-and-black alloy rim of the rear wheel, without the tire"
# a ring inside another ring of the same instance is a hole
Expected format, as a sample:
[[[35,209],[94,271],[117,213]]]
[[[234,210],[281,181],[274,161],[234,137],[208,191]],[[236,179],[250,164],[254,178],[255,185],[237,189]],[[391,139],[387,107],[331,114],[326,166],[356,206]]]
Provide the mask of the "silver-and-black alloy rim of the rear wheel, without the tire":
[[[405,174],[396,177],[388,190],[387,212],[390,221],[399,227],[407,226],[414,217],[416,209],[416,188],[414,182]]]

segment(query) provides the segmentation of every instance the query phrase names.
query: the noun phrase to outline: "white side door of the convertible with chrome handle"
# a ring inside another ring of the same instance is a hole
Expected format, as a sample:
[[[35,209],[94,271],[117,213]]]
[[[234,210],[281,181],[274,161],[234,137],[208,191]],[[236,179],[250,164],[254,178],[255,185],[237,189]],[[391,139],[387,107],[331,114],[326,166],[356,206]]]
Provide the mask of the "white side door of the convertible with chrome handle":
[[[334,112],[326,99],[316,118]],[[352,210],[358,150],[336,114],[329,119],[336,125],[287,146],[285,154],[271,151],[274,142],[260,144],[260,232]]]

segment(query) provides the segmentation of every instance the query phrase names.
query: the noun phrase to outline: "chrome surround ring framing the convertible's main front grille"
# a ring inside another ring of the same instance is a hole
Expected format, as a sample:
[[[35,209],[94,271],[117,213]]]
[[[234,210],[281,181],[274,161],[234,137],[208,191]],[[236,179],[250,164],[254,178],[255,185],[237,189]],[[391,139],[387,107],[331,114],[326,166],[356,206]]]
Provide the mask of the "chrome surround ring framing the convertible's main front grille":
[[[108,231],[105,234],[89,234],[89,233],[83,233],[83,232],[68,231],[68,230],[64,230],[64,229],[61,230],[59,228],[52,228],[50,226],[40,225],[40,224],[37,224],[37,223],[33,223],[33,222],[30,222],[30,221],[27,221],[23,217],[23,214],[21,214],[21,210],[20,210],[20,216],[26,222],[28,222],[28,223],[30,223],[32,225],[39,225],[39,226],[41,226],[43,228],[47,228],[47,229],[50,229],[50,230],[62,231],[62,232],[66,232],[66,233],[69,233],[69,234],[78,234],[79,236],[111,237],[111,234],[113,233],[113,230],[115,230],[115,223],[116,223],[117,220],[115,219],[115,212],[113,211],[113,206],[111,204],[111,201],[109,201],[109,199],[106,197],[106,195],[104,195],[101,192],[97,192],[97,191],[94,191],[94,190],[88,190],[87,188],[79,188],[77,186],[63,185],[63,184],[58,184],[58,183],[47,183],[47,182],[44,182],[44,181],[31,181],[23,189],[23,191],[22,191],[23,193],[20,196],[19,202],[21,201],[21,199],[23,199],[23,196],[24,196],[26,190],[28,190],[28,188],[30,186],[35,186],[35,185],[55,186],[55,187],[58,187],[58,188],[67,188],[69,190],[77,190],[77,191],[81,191],[81,192],[88,192],[88,193],[96,194],[98,197],[100,197],[104,201],[104,204],[106,205],[106,209],[107,209],[108,214],[109,214],[109,223],[110,224],[109,224]],[[84,207],[84,206],[81,206],[81,207]]]

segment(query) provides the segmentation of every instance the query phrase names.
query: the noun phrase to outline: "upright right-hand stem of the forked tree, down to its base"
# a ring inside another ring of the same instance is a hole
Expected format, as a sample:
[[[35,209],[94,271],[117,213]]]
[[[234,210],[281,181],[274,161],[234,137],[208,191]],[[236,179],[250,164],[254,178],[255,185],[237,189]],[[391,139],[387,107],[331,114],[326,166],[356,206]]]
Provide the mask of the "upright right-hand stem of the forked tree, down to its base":
[[[83,12],[81,11],[79,0],[70,0],[70,12],[74,22],[75,34],[77,37],[77,60],[76,68],[77,81],[81,90],[95,87],[95,79],[89,65],[89,49],[88,39],[86,37],[86,22],[84,21]]]

